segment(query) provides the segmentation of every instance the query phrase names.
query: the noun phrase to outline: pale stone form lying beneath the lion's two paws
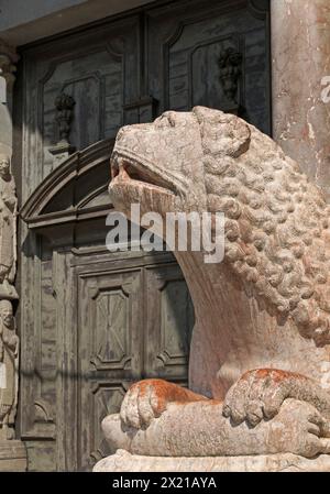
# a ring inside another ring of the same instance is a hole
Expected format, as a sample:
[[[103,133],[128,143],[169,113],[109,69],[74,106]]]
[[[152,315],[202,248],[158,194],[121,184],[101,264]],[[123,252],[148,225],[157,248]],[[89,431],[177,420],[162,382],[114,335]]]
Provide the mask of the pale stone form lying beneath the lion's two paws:
[[[151,457],[238,457],[295,453],[314,458],[330,453],[327,421],[310,404],[286,399],[272,420],[251,428],[234,426],[216,400],[170,403],[147,428],[123,426],[108,416],[102,428],[112,449]]]

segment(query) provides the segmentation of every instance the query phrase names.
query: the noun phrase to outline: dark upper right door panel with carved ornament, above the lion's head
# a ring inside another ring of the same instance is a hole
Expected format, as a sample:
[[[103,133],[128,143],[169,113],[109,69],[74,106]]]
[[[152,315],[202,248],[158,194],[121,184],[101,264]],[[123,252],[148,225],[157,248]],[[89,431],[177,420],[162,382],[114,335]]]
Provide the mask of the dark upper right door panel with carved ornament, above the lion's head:
[[[166,109],[218,108],[271,133],[268,0],[176,2],[147,15],[147,85]]]

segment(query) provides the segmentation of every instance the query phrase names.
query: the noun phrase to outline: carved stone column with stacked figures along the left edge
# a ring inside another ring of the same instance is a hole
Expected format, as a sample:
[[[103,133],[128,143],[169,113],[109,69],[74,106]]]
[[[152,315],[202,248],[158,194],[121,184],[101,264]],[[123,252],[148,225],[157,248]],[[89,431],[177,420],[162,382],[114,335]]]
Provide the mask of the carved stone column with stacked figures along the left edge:
[[[14,430],[19,392],[20,340],[13,317],[18,300],[18,200],[11,174],[12,89],[15,51],[0,41],[0,472],[26,470],[26,450]]]

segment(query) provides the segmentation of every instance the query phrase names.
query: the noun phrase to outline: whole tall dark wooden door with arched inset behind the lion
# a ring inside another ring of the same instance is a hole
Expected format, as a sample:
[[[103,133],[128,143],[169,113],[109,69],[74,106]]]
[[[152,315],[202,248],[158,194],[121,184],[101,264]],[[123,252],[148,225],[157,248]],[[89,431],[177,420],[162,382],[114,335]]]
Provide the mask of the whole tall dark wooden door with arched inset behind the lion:
[[[105,249],[111,140],[195,105],[271,133],[268,48],[267,0],[158,1],[22,47],[14,172],[35,208],[20,226],[18,426],[30,470],[90,470],[109,452],[100,421],[130,383],[187,385],[194,310],[175,260]],[[62,94],[81,152],[64,161]]]

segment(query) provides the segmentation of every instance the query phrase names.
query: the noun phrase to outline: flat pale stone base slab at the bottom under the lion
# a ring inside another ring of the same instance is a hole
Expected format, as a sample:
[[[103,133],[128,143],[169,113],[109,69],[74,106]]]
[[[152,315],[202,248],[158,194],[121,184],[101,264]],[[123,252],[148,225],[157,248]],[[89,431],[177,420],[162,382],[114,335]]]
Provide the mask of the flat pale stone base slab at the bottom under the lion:
[[[140,457],[124,450],[103,458],[94,472],[330,472],[330,455],[309,460],[296,454],[260,457]]]

